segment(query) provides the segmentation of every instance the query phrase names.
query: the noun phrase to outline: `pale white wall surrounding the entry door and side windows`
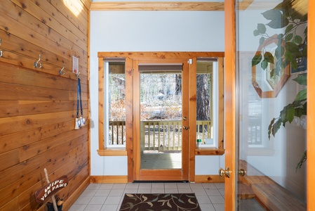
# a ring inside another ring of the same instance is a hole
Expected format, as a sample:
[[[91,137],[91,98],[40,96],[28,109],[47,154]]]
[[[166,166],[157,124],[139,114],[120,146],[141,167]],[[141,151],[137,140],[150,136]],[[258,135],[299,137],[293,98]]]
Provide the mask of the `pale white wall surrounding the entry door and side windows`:
[[[224,13],[91,11],[90,51],[91,175],[127,175],[126,156],[102,157],[97,153],[97,53],[99,51],[224,51]],[[197,156],[196,174],[217,174],[219,160],[222,160],[219,156]],[[208,170],[205,171],[206,165]]]

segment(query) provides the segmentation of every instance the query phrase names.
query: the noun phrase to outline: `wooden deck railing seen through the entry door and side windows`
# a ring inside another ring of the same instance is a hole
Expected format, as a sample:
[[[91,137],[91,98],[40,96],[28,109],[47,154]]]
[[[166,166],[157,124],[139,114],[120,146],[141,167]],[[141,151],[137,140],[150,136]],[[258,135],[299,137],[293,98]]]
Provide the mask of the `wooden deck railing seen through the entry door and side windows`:
[[[205,141],[212,138],[211,122],[196,122],[196,137]],[[182,121],[181,120],[150,120],[140,122],[141,151],[181,151]],[[109,144],[125,144],[126,122],[109,122]]]

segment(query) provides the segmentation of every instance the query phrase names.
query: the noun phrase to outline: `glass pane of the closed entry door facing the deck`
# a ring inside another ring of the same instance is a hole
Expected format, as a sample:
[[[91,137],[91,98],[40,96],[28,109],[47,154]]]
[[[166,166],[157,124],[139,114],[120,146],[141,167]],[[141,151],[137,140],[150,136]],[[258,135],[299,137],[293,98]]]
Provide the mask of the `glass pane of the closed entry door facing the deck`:
[[[141,169],[182,168],[181,70],[139,65]]]

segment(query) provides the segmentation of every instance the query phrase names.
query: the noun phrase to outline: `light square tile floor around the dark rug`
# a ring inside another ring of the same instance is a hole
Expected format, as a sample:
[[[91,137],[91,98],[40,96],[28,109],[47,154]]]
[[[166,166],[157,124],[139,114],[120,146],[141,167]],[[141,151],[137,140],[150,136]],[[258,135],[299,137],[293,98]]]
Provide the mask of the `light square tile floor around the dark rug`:
[[[223,183],[90,184],[70,211],[116,211],[125,193],[195,193],[201,210],[224,210]]]

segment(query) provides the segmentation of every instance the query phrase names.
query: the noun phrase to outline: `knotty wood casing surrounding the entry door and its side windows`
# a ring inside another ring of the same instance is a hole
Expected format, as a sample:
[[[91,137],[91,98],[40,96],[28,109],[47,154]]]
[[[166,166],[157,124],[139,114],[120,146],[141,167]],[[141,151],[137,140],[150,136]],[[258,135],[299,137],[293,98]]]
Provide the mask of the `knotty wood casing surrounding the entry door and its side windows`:
[[[193,59],[193,62],[196,62],[197,57],[213,57],[219,58],[222,61],[224,58],[224,52],[98,52],[98,63],[99,63],[99,99],[102,99],[104,96],[104,89],[100,89],[102,84],[104,83],[104,58],[126,58],[126,79],[127,77],[130,79],[133,77],[133,60],[144,60],[144,59],[182,59],[188,60]],[[189,64],[189,77],[194,77],[196,74],[196,68],[193,68],[194,65]],[[130,80],[128,80],[130,82]],[[133,81],[134,83],[134,81]],[[131,84],[133,87],[133,84]],[[196,82],[194,80],[189,80],[189,91],[188,91],[188,98],[189,98],[189,110],[191,108],[196,108]],[[194,88],[195,87],[195,88]],[[104,124],[102,122],[99,123],[99,150],[98,154],[100,156],[124,156],[127,155],[128,161],[128,182],[135,181],[136,172],[135,167],[136,165],[140,165],[139,163],[135,162],[135,160],[139,160],[136,157],[138,151],[137,148],[134,146],[135,139],[140,139],[140,137],[135,134],[135,127],[134,124],[134,116],[133,115],[133,105],[135,103],[135,99],[131,98],[133,94],[133,90],[128,89],[126,90],[126,127],[130,129],[130,132],[126,134],[126,149],[123,150],[115,150],[111,151],[104,148],[104,139],[103,139],[103,132],[104,132]],[[128,96],[127,96],[128,95]],[[102,114],[103,105],[99,103],[99,115]],[[100,117],[99,117],[100,118]],[[190,120],[196,120],[196,113],[189,112]],[[189,169],[188,169],[188,179],[189,181],[195,181],[195,156],[196,154],[199,155],[217,155],[217,150],[214,149],[213,152],[209,151],[208,153],[201,153],[198,151],[196,153],[196,124],[193,124],[193,121],[189,121]],[[222,144],[220,145],[220,150],[222,150]],[[139,154],[140,155],[140,154]]]

